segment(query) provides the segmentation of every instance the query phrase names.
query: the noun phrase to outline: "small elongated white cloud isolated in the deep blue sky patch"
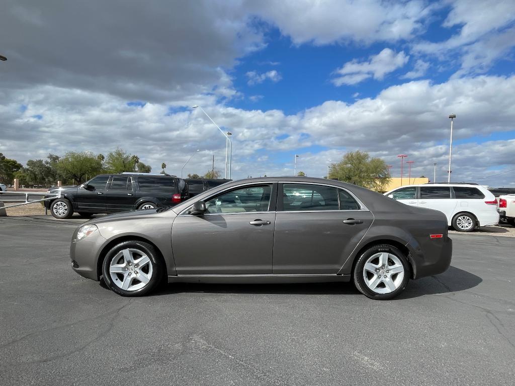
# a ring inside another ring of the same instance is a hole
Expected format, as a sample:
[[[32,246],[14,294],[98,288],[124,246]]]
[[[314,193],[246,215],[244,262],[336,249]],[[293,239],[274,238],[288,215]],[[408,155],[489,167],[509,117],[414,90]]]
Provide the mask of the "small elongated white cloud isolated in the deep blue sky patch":
[[[357,84],[371,77],[382,80],[386,74],[404,66],[408,59],[409,56],[404,51],[397,54],[390,48],[385,48],[379,54],[370,56],[368,61],[359,62],[354,59],[345,63],[334,72],[338,76],[331,81],[336,86],[341,86]]]

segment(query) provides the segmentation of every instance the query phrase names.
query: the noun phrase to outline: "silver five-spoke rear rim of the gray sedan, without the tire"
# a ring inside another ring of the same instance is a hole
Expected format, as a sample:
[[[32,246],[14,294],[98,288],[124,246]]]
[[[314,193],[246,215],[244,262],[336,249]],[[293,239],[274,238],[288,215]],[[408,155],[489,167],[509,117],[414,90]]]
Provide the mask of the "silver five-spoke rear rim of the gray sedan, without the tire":
[[[388,252],[370,256],[363,268],[365,284],[375,293],[390,293],[398,289],[404,279],[401,260]]]

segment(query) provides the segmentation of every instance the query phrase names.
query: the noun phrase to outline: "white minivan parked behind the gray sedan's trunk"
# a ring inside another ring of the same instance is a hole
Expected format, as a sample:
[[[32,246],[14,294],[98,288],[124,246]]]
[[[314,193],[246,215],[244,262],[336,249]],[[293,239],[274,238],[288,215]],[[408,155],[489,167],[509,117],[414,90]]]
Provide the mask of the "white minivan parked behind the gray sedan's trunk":
[[[387,191],[385,196],[404,204],[440,210],[447,216],[449,226],[459,232],[499,223],[497,200],[481,185],[405,185]]]

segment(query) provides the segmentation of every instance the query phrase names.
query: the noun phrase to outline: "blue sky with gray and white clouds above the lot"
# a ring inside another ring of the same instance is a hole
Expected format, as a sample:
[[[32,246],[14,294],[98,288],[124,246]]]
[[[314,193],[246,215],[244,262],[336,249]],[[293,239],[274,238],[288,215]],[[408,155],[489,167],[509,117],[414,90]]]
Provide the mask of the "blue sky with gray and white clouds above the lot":
[[[204,173],[215,155],[224,174],[225,138],[199,104],[233,133],[232,178],[291,174],[295,154],[298,170],[322,177],[359,149],[394,176],[399,153],[413,174],[436,162],[443,180],[456,113],[453,179],[515,185],[512,1],[5,9],[0,151],[21,162],[119,146],[179,173],[199,149],[186,172]]]

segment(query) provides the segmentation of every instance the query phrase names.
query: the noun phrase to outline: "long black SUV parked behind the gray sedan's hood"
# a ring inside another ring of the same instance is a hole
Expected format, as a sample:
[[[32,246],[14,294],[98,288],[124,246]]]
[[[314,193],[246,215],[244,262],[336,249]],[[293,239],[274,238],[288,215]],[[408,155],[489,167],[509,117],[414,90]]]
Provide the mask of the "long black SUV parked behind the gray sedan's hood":
[[[51,188],[48,193],[61,198],[44,201],[58,219],[96,213],[115,213],[133,209],[174,206],[188,199],[186,182],[169,174],[118,173],[100,174],[80,186]]]

